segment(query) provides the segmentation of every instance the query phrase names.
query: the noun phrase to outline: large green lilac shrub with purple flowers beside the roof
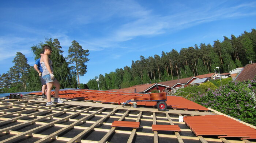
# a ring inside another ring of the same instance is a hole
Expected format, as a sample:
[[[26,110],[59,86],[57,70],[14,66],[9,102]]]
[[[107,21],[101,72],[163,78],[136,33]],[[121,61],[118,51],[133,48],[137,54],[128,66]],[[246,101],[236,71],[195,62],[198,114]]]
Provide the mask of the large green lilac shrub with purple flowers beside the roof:
[[[256,80],[229,82],[216,90],[194,96],[192,101],[256,125]]]

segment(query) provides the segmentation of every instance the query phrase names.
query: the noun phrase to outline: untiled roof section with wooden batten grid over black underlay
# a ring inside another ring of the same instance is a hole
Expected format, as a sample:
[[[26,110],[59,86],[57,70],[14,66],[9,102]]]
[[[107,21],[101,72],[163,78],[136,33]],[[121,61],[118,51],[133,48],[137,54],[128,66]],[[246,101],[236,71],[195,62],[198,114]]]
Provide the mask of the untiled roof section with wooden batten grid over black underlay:
[[[193,116],[210,112],[169,110],[159,112],[150,108],[121,108],[118,105],[66,101],[65,104],[45,106],[45,99],[0,100],[0,143],[8,142],[82,142],[82,143],[256,143],[249,140],[228,140],[195,136],[180,113]],[[95,106],[98,105],[98,106]],[[186,114],[190,113],[190,114]],[[111,127],[114,120],[140,122],[138,129]],[[152,131],[152,124],[178,125],[181,132]]]

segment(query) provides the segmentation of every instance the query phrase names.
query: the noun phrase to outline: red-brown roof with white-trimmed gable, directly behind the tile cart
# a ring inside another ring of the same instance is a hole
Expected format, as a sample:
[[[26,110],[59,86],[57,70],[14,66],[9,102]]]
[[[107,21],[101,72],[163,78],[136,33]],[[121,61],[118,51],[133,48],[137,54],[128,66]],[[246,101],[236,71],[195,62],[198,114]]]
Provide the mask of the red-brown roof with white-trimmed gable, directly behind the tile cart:
[[[128,88],[122,88],[122,89],[113,89],[113,90],[108,90],[108,91],[117,91],[117,92],[131,92],[134,93],[134,89],[136,89],[136,93],[142,93],[142,92],[146,92],[148,90],[150,90],[150,88],[154,87],[154,86],[163,86],[163,87],[169,87],[163,84],[159,84],[159,83],[147,83],[147,84],[140,84],[137,86],[132,86],[132,87],[128,87]]]

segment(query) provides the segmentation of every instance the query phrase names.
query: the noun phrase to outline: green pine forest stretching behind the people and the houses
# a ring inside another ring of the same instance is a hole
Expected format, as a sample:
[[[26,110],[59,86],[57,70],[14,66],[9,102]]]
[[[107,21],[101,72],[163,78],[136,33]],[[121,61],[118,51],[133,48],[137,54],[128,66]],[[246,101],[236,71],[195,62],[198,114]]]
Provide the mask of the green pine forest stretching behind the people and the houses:
[[[196,42],[196,41],[195,41]],[[132,61],[131,66],[117,68],[115,71],[100,74],[90,79],[88,83],[80,83],[79,75],[86,76],[86,63],[89,50],[84,50],[79,43],[72,41],[69,56],[64,57],[58,39],[46,39],[44,43],[31,45],[35,60],[39,58],[42,45],[53,48],[50,59],[53,61],[54,75],[59,80],[61,88],[89,88],[98,90],[96,79],[99,79],[100,90],[119,89],[145,83],[159,83],[167,80],[187,78],[196,75],[218,72],[229,72],[237,67],[256,61],[256,30],[242,33],[236,37],[224,36],[223,40],[215,40],[213,44],[201,43],[193,47],[182,48],[179,52],[171,49],[163,51],[162,55],[154,55]],[[83,58],[77,60],[74,49],[83,53]],[[41,83],[38,73],[27,63],[27,58],[17,52],[13,60],[14,66],[7,73],[1,73],[0,93],[40,91]]]

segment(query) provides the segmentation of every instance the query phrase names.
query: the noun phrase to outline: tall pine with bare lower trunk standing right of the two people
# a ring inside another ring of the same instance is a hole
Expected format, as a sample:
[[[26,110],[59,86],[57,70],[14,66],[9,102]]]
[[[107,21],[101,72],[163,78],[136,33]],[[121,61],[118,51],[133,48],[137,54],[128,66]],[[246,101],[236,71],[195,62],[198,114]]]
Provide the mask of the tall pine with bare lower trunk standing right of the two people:
[[[68,49],[68,59],[70,64],[74,64],[71,66],[71,69],[76,70],[76,75],[78,79],[78,87],[80,87],[80,81],[79,81],[79,75],[83,76],[87,72],[87,61],[89,59],[87,56],[89,56],[89,50],[84,50],[81,45],[77,41],[72,41],[71,46]]]

